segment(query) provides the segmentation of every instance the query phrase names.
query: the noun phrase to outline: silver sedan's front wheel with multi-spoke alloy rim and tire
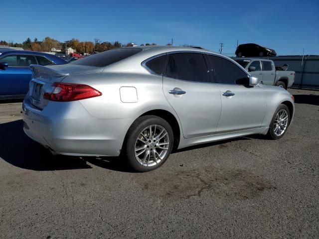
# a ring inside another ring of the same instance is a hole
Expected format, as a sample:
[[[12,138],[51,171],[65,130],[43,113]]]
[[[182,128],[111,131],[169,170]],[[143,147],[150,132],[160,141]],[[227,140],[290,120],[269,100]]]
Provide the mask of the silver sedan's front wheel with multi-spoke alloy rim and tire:
[[[268,130],[268,136],[271,139],[280,139],[282,138],[290,122],[290,112],[286,105],[281,104],[271,120]]]

